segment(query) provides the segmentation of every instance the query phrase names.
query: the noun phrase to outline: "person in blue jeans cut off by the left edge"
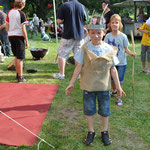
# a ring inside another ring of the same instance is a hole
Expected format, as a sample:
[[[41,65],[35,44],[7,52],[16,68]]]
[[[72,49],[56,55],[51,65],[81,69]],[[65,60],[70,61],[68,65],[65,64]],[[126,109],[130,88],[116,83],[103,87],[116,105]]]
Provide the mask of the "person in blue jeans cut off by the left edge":
[[[0,6],[0,40],[4,46],[4,51],[6,56],[10,56],[10,44],[8,40],[8,33],[6,32],[6,24],[5,24],[5,18],[6,14],[2,11],[2,6]],[[1,43],[0,43],[1,44]]]

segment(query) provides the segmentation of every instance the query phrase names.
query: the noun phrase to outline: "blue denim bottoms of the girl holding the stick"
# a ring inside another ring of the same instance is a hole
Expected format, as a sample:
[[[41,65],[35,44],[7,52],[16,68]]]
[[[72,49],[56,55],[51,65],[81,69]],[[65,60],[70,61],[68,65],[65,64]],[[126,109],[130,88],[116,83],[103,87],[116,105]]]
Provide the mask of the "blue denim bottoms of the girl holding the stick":
[[[126,72],[126,65],[124,65],[124,66],[115,66],[115,67],[118,71],[118,77],[119,77],[120,84],[123,84],[124,75],[125,75],[125,72]],[[112,82],[114,82],[113,79],[112,79]]]

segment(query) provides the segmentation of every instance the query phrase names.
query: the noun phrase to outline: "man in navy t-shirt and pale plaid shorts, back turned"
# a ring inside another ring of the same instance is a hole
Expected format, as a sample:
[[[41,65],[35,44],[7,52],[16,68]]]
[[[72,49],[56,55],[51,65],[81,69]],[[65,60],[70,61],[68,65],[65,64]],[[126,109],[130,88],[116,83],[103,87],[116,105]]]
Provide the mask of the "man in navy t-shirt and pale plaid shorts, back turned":
[[[84,23],[87,19],[85,6],[78,0],[68,0],[63,3],[57,13],[57,23],[64,25],[60,46],[58,49],[59,73],[53,75],[56,79],[65,79],[65,64],[71,50],[74,55],[79,51],[84,38]]]

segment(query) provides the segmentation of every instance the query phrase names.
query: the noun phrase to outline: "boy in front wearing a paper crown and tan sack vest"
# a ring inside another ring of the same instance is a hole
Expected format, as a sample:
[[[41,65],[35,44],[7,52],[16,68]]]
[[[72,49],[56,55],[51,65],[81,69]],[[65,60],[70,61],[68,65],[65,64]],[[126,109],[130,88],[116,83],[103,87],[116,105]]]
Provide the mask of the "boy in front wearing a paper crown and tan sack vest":
[[[103,42],[104,25],[90,24],[87,26],[91,41],[85,43],[81,50],[75,55],[77,61],[72,79],[66,88],[66,95],[69,95],[81,72],[80,88],[83,91],[84,114],[88,122],[88,135],[84,140],[90,145],[95,137],[93,116],[96,114],[96,99],[98,101],[98,114],[102,120],[102,142],[105,146],[112,143],[108,133],[108,118],[110,115],[110,94],[111,76],[113,77],[118,95],[125,96],[122,90],[115,64],[117,53],[110,45]],[[82,70],[82,71],[81,71]]]

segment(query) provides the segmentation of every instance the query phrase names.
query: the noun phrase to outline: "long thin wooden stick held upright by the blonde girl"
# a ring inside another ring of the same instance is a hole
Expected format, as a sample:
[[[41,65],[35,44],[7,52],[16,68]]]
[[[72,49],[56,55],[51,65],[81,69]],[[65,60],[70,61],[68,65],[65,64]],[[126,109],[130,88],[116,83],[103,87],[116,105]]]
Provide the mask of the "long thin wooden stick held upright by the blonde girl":
[[[134,37],[133,37],[133,31],[130,30],[131,34],[131,40],[132,40],[132,47],[133,47],[133,53],[135,53],[135,44],[134,44]],[[135,91],[134,91],[134,58],[133,58],[133,63],[132,63],[132,91],[133,91],[133,106],[135,104]]]

